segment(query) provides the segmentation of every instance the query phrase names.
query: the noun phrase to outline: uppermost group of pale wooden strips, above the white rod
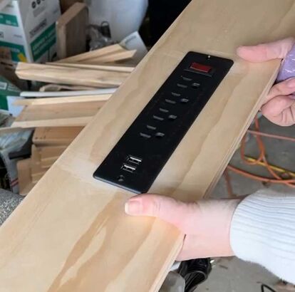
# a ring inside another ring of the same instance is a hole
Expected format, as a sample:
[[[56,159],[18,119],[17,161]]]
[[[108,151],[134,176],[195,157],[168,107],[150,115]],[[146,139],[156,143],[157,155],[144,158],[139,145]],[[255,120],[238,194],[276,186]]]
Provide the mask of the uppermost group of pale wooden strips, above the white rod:
[[[16,68],[16,75],[24,80],[46,83],[83,85],[95,88],[118,87],[133,71],[133,67],[115,62],[129,60],[133,58],[135,53],[136,50],[128,51],[115,44],[54,63],[20,62]]]

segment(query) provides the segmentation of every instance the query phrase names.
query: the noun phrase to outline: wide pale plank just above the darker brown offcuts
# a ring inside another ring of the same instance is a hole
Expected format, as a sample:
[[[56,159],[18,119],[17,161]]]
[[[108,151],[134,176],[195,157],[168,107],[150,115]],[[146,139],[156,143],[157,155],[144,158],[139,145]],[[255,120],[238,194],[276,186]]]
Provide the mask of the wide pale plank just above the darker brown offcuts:
[[[11,127],[54,127],[87,125],[104,105],[102,101],[28,105]]]

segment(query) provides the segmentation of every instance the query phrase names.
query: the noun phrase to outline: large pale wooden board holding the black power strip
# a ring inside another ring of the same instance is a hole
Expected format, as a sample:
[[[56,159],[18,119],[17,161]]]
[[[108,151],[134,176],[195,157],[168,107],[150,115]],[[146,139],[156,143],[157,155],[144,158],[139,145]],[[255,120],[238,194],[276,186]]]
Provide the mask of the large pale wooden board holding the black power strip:
[[[1,288],[157,291],[183,235],[163,221],[125,215],[133,194],[98,182],[93,172],[187,51],[200,51],[232,58],[234,66],[150,192],[184,201],[209,194],[280,65],[247,63],[236,48],[294,35],[294,14],[293,0],[192,1],[1,226]]]

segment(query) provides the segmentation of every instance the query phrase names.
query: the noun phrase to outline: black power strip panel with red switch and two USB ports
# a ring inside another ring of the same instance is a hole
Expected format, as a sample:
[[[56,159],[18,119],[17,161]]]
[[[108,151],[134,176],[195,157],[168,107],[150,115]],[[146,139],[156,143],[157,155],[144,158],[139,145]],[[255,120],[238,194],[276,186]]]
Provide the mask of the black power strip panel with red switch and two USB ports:
[[[131,192],[148,192],[233,63],[187,53],[93,177]]]

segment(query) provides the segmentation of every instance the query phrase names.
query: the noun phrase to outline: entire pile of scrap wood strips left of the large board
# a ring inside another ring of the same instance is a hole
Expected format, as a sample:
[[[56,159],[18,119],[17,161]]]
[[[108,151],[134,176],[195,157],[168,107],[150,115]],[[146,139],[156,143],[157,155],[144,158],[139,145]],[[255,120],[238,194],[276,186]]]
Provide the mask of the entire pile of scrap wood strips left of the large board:
[[[24,106],[24,109],[12,127],[36,128],[31,158],[21,160],[17,165],[21,194],[27,194],[43,177],[116,88],[130,75],[133,66],[116,62],[126,61],[134,54],[135,51],[127,51],[115,44],[55,63],[19,63],[16,74],[21,79],[51,83],[47,85],[50,88],[83,88],[84,93],[80,95],[71,91],[73,95],[70,93],[69,96],[68,92],[64,92],[56,93],[57,96],[54,94],[54,97],[36,98],[42,93],[32,95],[33,98],[16,100],[15,105]]]

